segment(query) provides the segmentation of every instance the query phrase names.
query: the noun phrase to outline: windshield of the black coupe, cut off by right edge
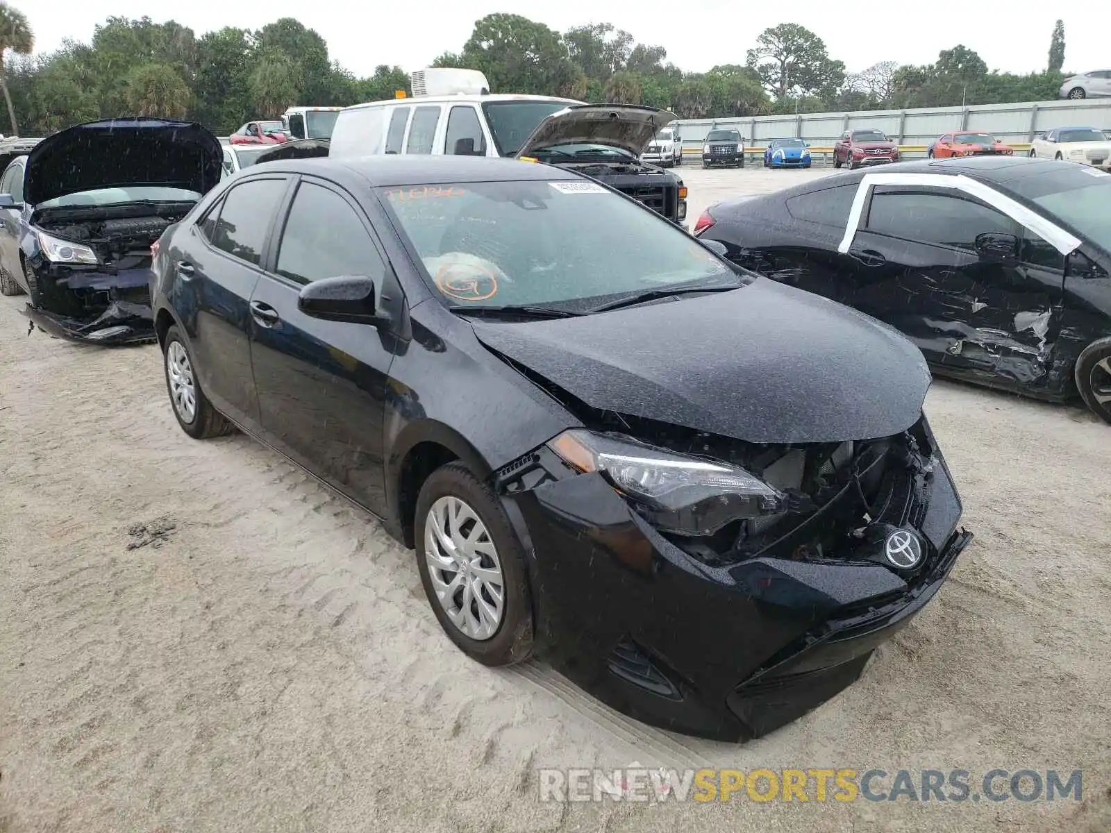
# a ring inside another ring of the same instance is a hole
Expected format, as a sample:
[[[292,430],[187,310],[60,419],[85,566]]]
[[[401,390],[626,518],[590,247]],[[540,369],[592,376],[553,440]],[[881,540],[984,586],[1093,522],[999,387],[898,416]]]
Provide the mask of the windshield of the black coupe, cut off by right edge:
[[[1111,252],[1111,174],[1069,165],[1040,177],[1022,177],[1008,184],[1051,217]]]

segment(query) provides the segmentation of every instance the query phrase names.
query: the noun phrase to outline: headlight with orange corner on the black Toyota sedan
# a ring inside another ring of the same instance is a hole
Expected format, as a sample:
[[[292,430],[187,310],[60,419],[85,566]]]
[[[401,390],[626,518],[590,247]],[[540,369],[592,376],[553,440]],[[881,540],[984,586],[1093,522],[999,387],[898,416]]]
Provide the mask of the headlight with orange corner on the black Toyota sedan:
[[[563,432],[548,446],[573,469],[602,474],[664,532],[712,535],[731,521],[787,511],[787,495],[723,461],[581,429]]]

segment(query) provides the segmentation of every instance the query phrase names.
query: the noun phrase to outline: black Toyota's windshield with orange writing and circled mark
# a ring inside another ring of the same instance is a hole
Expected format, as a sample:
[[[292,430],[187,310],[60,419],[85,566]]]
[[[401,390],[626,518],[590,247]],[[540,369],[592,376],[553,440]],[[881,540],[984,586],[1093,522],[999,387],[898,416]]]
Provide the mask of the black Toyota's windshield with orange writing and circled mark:
[[[584,310],[614,295],[737,273],[697,240],[597,182],[380,189],[429,284],[450,307]]]

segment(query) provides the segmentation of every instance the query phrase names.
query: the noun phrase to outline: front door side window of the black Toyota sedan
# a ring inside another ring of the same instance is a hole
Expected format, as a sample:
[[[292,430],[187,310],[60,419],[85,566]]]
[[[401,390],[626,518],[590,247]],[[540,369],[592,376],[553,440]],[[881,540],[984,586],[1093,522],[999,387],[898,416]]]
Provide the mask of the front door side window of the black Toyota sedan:
[[[386,263],[351,203],[329,188],[302,182],[286,219],[278,274],[310,283],[357,274],[377,280],[384,273]]]

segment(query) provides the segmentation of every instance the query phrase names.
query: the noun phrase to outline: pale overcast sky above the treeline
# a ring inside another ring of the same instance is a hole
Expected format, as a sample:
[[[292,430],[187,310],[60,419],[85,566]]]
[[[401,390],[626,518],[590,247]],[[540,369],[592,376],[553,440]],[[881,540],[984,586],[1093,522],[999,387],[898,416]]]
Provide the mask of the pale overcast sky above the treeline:
[[[426,67],[441,52],[459,50],[476,20],[499,11],[523,14],[559,31],[583,23],[610,22],[631,32],[638,42],[663,46],[669,60],[695,72],[717,63],[743,63],[745,50],[755,36],[782,22],[801,23],[814,31],[825,41],[830,56],[844,61],[850,72],[877,61],[929,63],[939,50],[957,43],[974,49],[992,69],[1039,71],[1045,68],[1053,22],[1058,14],[1064,13],[1064,69],[1084,72],[1111,62],[1105,28],[1084,4],[1070,4],[1077,11],[1061,12],[1045,10],[1052,3],[952,3],[944,4],[943,14],[935,14],[928,10],[941,7],[919,0],[848,7],[829,0],[789,3],[688,0],[665,4],[659,0],[611,3],[188,0],[172,6],[159,3],[160,11],[156,13],[149,0],[10,2],[28,16],[39,52],[57,49],[63,38],[90,40],[93,27],[112,14],[129,18],[149,14],[162,21],[172,9],[172,18],[191,27],[198,37],[224,26],[258,29],[278,18],[293,17],[320,32],[328,41],[332,59],[357,76],[370,74],[380,63],[399,64],[407,71]]]

